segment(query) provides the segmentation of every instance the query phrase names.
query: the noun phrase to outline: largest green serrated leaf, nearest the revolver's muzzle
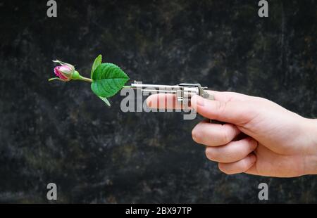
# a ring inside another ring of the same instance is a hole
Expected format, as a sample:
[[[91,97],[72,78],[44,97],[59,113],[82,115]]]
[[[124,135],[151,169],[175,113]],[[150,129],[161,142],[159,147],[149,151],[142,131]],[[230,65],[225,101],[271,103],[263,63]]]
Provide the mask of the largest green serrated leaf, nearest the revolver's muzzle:
[[[128,75],[117,65],[101,63],[92,75],[92,91],[99,97],[108,98],[117,94],[128,80]]]

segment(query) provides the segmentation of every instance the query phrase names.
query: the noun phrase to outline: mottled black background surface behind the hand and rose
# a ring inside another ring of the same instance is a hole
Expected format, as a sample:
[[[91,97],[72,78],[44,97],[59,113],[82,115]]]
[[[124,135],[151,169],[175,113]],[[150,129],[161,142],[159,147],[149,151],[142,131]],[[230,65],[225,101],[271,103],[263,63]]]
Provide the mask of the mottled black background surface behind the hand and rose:
[[[92,61],[150,84],[199,82],[317,115],[316,1],[0,1],[0,202],[317,203],[317,177],[228,176],[180,113],[122,113],[84,82],[47,82],[56,58]]]

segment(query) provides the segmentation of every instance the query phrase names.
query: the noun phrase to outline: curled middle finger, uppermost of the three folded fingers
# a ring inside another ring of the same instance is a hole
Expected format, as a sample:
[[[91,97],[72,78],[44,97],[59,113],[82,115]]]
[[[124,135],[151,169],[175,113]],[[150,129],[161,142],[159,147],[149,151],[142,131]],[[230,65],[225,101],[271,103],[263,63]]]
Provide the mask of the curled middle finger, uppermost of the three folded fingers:
[[[213,124],[202,121],[192,129],[192,139],[205,146],[225,145],[238,134],[240,130],[234,124]]]

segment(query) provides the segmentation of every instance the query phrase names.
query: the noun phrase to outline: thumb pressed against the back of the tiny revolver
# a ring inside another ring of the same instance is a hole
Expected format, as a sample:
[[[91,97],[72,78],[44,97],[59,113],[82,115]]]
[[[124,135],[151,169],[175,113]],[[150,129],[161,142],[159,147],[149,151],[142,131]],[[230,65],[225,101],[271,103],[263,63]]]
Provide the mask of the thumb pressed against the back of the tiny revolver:
[[[195,95],[191,107],[204,117],[233,124],[245,124],[257,115],[248,101],[211,101]]]

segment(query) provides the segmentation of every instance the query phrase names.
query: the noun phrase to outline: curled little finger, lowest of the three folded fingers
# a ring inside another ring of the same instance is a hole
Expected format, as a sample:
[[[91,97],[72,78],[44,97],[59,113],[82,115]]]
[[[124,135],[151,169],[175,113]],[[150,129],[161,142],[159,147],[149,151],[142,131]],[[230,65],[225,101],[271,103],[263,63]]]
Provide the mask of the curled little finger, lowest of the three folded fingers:
[[[256,162],[256,155],[253,153],[247,155],[246,158],[238,160],[237,162],[223,163],[219,162],[219,169],[225,174],[237,174],[246,172]]]

